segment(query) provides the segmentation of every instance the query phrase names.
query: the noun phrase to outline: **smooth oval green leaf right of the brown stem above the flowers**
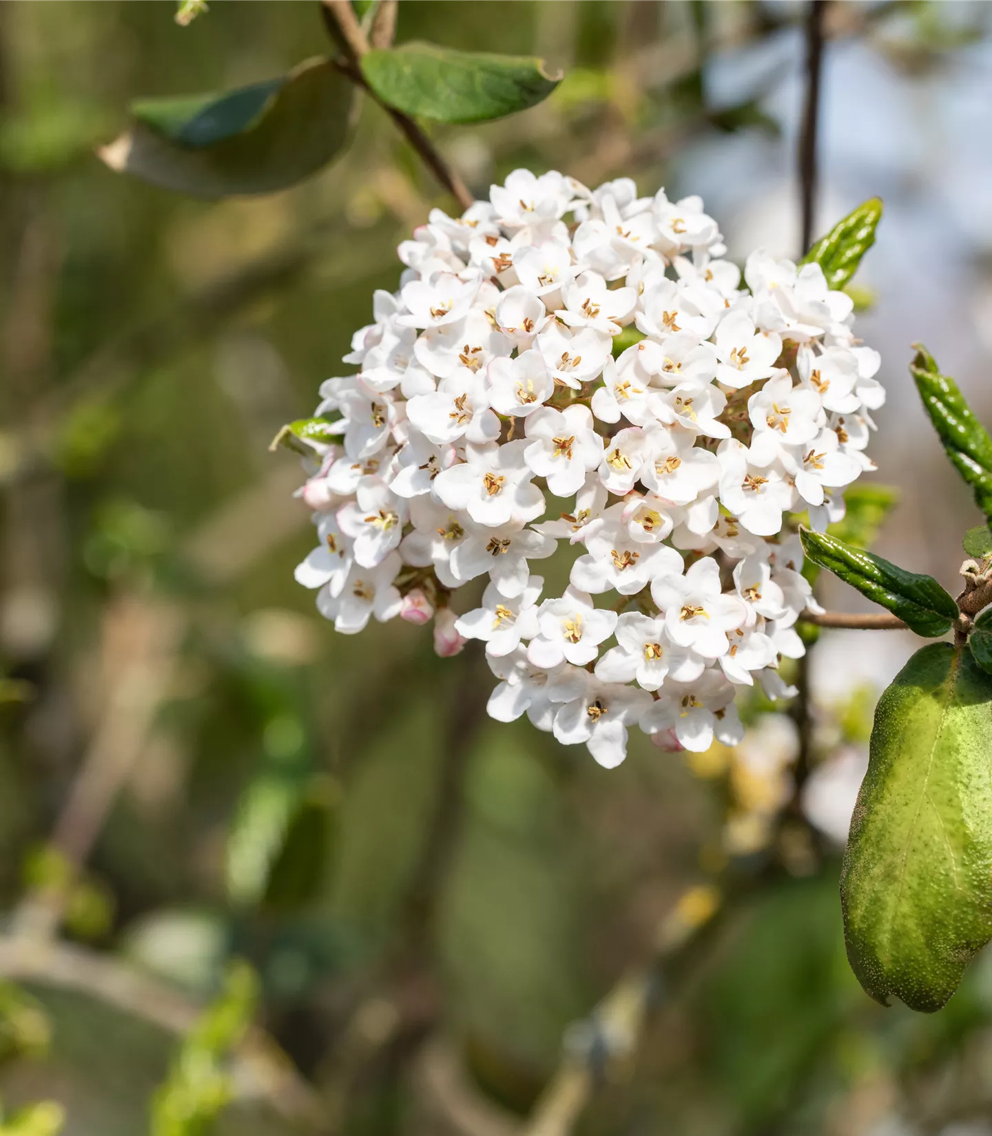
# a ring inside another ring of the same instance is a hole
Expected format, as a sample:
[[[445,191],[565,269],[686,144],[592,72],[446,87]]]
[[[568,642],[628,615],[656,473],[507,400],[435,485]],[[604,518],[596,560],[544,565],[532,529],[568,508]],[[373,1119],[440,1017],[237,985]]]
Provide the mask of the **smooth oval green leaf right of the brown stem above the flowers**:
[[[441,123],[483,123],[526,110],[561,82],[541,59],[434,43],[369,51],[361,57],[361,73],[387,106]]]

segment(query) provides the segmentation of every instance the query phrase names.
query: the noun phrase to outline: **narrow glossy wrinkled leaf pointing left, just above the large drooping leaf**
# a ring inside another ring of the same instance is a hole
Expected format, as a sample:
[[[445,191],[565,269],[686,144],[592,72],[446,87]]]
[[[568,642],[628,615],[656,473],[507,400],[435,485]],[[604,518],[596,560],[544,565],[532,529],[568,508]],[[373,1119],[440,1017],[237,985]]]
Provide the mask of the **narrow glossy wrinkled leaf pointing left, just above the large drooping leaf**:
[[[958,605],[932,576],[907,571],[826,533],[805,528],[800,536],[802,550],[814,563],[887,608],[917,635],[943,635],[958,618]]]

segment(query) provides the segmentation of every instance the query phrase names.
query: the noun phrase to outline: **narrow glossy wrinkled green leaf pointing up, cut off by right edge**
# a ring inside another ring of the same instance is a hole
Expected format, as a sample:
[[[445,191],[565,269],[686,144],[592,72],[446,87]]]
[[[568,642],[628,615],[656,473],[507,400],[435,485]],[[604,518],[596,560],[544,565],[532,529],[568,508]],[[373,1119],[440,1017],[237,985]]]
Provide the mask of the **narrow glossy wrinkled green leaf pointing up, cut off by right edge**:
[[[922,344],[914,344],[916,358],[909,373],[923,399],[944,452],[961,477],[972,486],[975,503],[992,519],[992,438],[972,414],[958,384],[941,375],[933,356]]]

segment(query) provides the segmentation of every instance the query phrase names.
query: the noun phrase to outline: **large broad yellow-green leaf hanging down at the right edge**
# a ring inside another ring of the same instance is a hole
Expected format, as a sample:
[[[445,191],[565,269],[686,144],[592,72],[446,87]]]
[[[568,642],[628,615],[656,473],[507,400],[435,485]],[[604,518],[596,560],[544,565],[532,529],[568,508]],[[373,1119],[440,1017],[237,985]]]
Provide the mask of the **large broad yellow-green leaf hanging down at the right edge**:
[[[848,958],[883,1005],[939,1010],[992,936],[992,678],[918,651],[875,711],[841,872]]]

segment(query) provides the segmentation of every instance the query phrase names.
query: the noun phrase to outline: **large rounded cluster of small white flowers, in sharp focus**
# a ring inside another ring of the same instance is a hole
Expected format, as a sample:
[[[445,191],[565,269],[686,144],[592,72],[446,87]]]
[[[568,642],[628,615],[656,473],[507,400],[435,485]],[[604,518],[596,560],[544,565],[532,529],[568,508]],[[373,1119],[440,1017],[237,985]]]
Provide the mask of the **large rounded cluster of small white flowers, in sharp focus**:
[[[764,251],[742,287],[698,198],[630,179],[517,170],[399,254],[399,292],[345,356],[358,374],[320,387],[340,444],[301,491],[319,543],[298,580],[340,632],[433,617],[439,653],[483,640],[489,712],[605,766],[632,725],[662,749],[734,744],[735,691],[790,693],[777,667],[814,607],[783,516],[824,528],[874,468],[884,391],[851,299]],[[531,561],[559,546],[570,584],[542,599]]]

